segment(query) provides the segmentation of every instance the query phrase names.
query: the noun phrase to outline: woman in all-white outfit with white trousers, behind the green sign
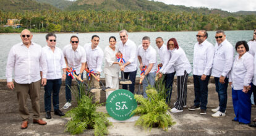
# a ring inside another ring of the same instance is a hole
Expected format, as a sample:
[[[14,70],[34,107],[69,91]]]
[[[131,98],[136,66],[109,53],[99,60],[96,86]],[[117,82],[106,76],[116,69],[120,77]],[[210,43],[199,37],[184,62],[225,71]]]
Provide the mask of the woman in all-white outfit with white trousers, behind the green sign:
[[[118,48],[116,47],[116,38],[111,36],[109,37],[109,46],[106,46],[104,50],[104,73],[106,79],[106,87],[114,88],[115,90],[119,89],[118,74],[120,68],[116,59],[117,51]],[[109,91],[108,95],[110,95],[110,93],[112,93],[112,91]]]

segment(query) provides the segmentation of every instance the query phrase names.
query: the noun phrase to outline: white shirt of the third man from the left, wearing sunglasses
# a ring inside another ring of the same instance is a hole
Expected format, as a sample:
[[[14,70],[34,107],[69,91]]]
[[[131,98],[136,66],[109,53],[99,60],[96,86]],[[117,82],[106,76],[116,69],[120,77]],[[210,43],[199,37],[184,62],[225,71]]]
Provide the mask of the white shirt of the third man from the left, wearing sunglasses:
[[[87,58],[85,54],[85,49],[82,46],[78,45],[77,49],[72,49],[72,45],[66,45],[63,48],[64,57],[67,59],[67,65],[70,68],[74,68],[77,73],[80,73],[82,63],[85,63]]]

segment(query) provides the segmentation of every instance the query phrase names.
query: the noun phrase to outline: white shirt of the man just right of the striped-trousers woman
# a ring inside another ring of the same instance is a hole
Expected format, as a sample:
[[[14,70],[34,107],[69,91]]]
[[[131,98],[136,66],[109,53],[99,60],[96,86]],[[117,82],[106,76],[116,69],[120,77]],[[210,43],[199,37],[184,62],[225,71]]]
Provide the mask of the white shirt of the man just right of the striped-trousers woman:
[[[214,47],[207,40],[194,45],[193,75],[210,75],[213,66]]]

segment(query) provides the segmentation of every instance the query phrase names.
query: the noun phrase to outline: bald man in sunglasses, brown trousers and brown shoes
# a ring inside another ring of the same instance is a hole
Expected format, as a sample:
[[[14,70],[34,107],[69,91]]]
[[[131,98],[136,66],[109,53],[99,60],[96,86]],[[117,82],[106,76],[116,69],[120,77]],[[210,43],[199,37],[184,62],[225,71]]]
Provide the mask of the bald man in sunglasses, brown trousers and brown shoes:
[[[12,46],[8,55],[6,65],[7,87],[17,92],[19,102],[19,113],[22,117],[21,129],[27,129],[29,111],[27,108],[27,97],[30,96],[33,109],[33,123],[45,125],[40,119],[40,84],[46,85],[47,63],[40,45],[33,43],[33,35],[25,29],[21,32],[22,43]],[[40,67],[43,71],[42,79]],[[14,82],[12,72],[14,70]]]

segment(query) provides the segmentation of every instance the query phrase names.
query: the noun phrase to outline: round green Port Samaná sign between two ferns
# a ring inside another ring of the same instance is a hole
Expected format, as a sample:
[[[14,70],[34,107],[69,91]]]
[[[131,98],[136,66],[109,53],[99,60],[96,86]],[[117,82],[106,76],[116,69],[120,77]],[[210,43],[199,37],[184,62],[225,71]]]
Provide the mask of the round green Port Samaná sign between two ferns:
[[[134,94],[128,90],[119,89],[113,91],[106,100],[106,110],[108,114],[116,120],[124,121],[129,119],[130,113],[137,108]]]

